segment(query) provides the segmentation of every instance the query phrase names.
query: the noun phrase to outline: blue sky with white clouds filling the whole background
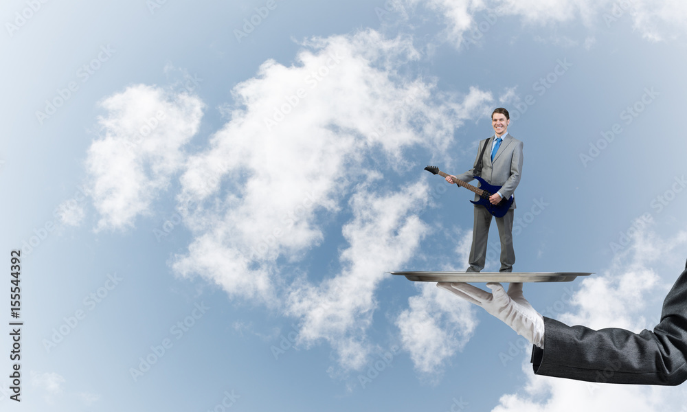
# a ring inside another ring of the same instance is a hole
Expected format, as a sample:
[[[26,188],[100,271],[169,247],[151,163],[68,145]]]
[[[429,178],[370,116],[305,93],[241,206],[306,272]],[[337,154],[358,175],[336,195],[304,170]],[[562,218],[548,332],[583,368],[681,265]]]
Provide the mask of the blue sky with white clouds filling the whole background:
[[[8,266],[22,251],[24,322],[21,402],[3,378],[3,408],[685,403],[534,376],[505,325],[386,273],[466,268],[471,194],[423,168],[469,169],[504,106],[524,142],[515,269],[596,273],[526,285],[532,306],[653,328],[686,258],[683,3],[28,0],[0,16],[0,242]]]

